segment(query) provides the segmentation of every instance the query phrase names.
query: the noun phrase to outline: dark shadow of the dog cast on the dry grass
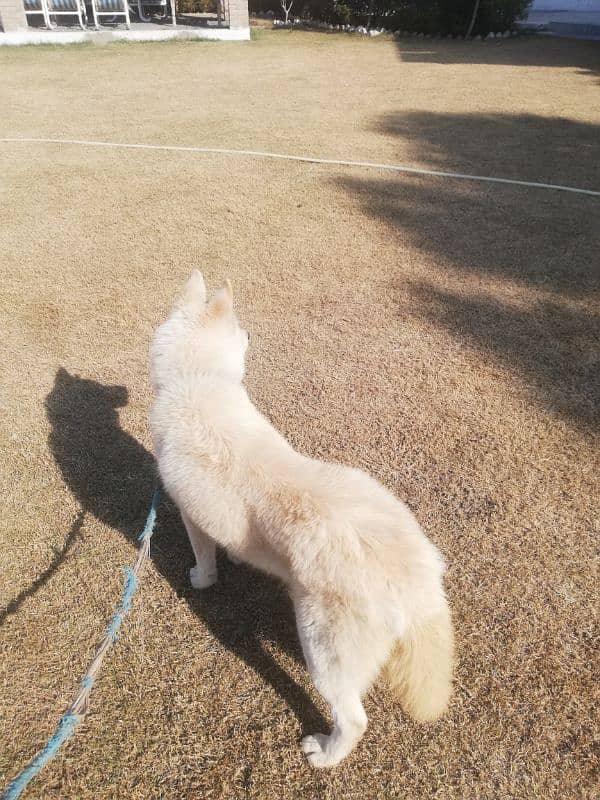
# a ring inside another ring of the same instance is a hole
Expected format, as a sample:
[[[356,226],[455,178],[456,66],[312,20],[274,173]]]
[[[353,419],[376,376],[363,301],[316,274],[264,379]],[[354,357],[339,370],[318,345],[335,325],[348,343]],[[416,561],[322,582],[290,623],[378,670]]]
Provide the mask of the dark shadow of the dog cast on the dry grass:
[[[127,404],[124,386],[105,386],[59,369],[46,398],[52,426],[48,443],[65,482],[84,512],[136,537],[148,511],[156,468],[152,455],[121,428],[117,409]],[[219,581],[208,590],[190,588],[191,547],[169,502],[159,508],[152,538],[153,562],[211,633],[268,682],[298,717],[303,732],[327,724],[304,689],[262,642],[276,642],[302,659],[291,602],[285,589],[266,575],[219,556]]]

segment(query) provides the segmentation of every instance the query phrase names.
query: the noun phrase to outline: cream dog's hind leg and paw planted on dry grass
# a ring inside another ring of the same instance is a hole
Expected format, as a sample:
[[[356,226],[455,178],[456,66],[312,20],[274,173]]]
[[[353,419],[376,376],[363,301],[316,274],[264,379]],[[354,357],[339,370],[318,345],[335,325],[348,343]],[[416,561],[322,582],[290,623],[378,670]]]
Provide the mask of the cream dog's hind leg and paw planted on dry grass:
[[[333,717],[331,734],[305,736],[302,749],[313,767],[332,767],[365,732],[361,697],[377,677],[389,643],[374,640],[367,620],[339,598],[295,598],[295,608],[308,669]]]

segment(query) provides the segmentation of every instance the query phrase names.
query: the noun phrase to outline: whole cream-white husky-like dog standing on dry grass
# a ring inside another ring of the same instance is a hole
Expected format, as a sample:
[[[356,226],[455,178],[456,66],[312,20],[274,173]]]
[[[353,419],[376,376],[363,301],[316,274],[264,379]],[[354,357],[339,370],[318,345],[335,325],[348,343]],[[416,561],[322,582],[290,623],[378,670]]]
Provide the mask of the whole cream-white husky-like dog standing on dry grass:
[[[444,565],[383,486],[297,453],[257,411],[242,384],[247,347],[231,285],[207,301],[195,271],[152,342],[156,458],[196,556],[195,588],[217,580],[217,544],[287,584],[334,723],[302,749],[313,766],[330,767],[365,731],[361,697],[382,667],[417,720],[446,709],[453,637]]]

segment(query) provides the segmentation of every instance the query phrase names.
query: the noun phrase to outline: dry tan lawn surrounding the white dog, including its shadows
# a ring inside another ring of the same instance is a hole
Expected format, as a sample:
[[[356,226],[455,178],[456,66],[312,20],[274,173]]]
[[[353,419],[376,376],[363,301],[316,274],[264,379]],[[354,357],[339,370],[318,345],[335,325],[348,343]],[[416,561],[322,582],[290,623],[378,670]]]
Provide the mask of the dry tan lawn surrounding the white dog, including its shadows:
[[[252,147],[599,188],[600,55],[263,34],[0,52],[0,136]],[[125,83],[123,83],[125,81]],[[383,690],[334,772],[285,593],[191,591],[170,507],[88,721],[32,798],[591,798],[597,199],[219,156],[1,145],[0,776],[43,743],[150,501],[146,353],[229,275],[248,384],[303,451],[405,497],[449,562],[451,713]],[[112,387],[112,388],[111,388]],[[120,388],[119,388],[120,387]]]

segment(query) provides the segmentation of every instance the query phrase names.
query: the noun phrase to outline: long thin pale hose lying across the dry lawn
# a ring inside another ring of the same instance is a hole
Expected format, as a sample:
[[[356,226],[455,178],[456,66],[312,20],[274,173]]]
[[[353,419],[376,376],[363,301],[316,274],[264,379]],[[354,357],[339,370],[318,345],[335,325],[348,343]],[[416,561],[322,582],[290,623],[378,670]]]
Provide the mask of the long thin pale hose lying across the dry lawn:
[[[212,153],[225,156],[248,156],[250,158],[271,158],[283,161],[300,161],[306,164],[325,164],[339,167],[362,167],[364,169],[380,169],[389,172],[403,172],[409,175],[429,175],[434,178],[455,178],[463,181],[482,181],[484,183],[505,183],[511,186],[528,186],[534,189],[554,189],[560,192],[572,192],[591,197],[600,197],[600,191],[580,189],[575,186],[562,186],[558,183],[539,183],[522,181],[514,178],[497,178],[489,175],[468,175],[462,172],[442,172],[434,169],[405,167],[400,164],[379,164],[374,161],[347,161],[335,158],[317,158],[315,156],[294,156],[284,153],[269,153],[262,150],[231,150],[220,147],[186,147],[168,144],[128,144],[125,142],[97,142],[86,139],[38,139],[38,138],[0,138],[3,144],[58,144],[79,147],[109,147],[123,150],[161,150],[174,153]]]

